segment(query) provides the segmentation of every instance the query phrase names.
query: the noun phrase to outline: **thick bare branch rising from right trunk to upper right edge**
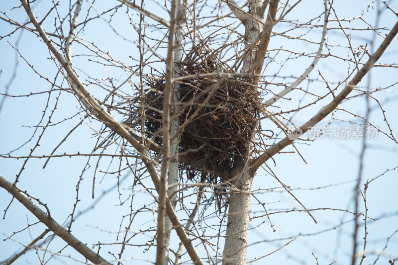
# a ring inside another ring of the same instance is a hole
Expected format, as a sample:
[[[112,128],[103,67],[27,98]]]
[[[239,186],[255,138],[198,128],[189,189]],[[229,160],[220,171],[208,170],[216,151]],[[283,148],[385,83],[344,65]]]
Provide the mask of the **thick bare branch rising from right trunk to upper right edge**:
[[[369,72],[369,70],[373,67],[375,62],[380,59],[384,51],[390,45],[391,41],[398,33],[398,22],[394,25],[393,29],[386,36],[380,47],[377,51],[369,58],[366,64],[359,70],[359,72],[353,77],[353,79],[345,86],[345,88],[322,110],[320,110],[316,115],[314,115],[311,119],[309,119],[305,124],[303,124],[300,129],[302,133],[308,131],[309,128],[316,125],[322,119],[324,119],[327,115],[329,115],[340,103],[343,101],[348,94],[358,85],[358,83],[362,80],[362,78]],[[286,137],[281,140],[279,143],[275,144],[273,147],[268,149],[268,152],[263,153],[256,160],[253,161],[251,165],[251,170],[255,172],[262,164],[264,164],[268,159],[270,159],[273,155],[277,154],[279,151],[292,144],[294,140]]]

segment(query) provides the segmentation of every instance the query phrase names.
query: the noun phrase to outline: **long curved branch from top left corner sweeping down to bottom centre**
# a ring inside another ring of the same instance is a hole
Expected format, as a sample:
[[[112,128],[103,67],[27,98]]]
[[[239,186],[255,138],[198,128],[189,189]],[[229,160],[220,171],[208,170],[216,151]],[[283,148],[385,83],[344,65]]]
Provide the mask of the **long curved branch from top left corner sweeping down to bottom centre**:
[[[20,0],[26,13],[28,14],[30,21],[33,23],[33,25],[36,27],[37,31],[39,32],[40,37],[43,39],[43,41],[46,43],[47,47],[49,50],[55,55],[59,63],[61,64],[62,67],[64,67],[65,71],[68,74],[68,77],[70,80],[73,82],[73,87],[77,93],[81,96],[82,99],[84,99],[87,103],[91,105],[93,110],[95,111],[95,114],[99,117],[100,121],[105,123],[107,126],[109,126],[114,132],[119,134],[121,137],[126,139],[140,154],[142,162],[144,162],[145,166],[147,167],[148,173],[151,176],[152,181],[154,182],[154,185],[156,187],[156,190],[159,192],[159,183],[160,179],[157,173],[157,170],[155,166],[152,163],[152,160],[148,157],[146,153],[146,148],[139,143],[139,140],[137,140],[135,135],[130,134],[126,130],[126,126],[122,124],[121,122],[117,121],[111,114],[106,112],[100,107],[100,104],[97,102],[97,100],[90,94],[90,92],[85,88],[83,83],[80,81],[78,76],[75,74],[73,71],[72,67],[68,62],[65,60],[63,55],[58,51],[58,49],[52,44],[51,40],[48,38],[46,33],[44,32],[44,29],[41,27],[39,22],[37,21],[33,11],[30,9],[28,3],[26,0]],[[180,220],[178,219],[178,216],[176,212],[174,211],[170,200],[166,196],[166,213],[169,216],[174,229],[176,229],[177,235],[180,237],[181,241],[183,242],[185,248],[187,249],[188,254],[190,255],[190,258],[194,262],[194,264],[201,265],[202,262],[200,261],[199,255],[196,252],[194,246],[192,245],[191,240],[188,238],[183,226],[180,223]],[[67,242],[69,243],[69,242]]]

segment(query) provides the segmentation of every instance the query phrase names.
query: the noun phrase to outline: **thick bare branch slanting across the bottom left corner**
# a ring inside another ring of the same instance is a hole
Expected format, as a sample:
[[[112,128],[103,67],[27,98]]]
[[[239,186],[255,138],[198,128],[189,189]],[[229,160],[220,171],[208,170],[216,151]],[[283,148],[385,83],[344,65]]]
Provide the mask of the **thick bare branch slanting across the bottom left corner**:
[[[83,242],[75,238],[71,233],[69,233],[65,228],[58,224],[53,218],[49,217],[45,212],[43,212],[37,205],[35,205],[25,194],[19,192],[19,190],[11,184],[7,179],[0,175],[0,186],[6,191],[11,193],[11,195],[16,198],[23,206],[26,207],[37,219],[45,224],[49,229],[51,229],[54,234],[65,240],[72,248],[77,250],[85,258],[94,264],[111,264],[103,259],[100,255],[92,251]]]

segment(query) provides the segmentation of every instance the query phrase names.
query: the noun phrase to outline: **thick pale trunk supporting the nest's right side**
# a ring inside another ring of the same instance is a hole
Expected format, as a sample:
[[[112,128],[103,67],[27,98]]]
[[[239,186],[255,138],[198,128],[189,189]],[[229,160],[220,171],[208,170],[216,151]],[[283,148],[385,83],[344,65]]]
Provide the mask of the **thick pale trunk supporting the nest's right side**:
[[[258,76],[262,72],[268,50],[278,2],[278,0],[252,1],[248,6],[249,12],[246,13],[236,8],[238,5],[234,0],[228,1],[230,9],[235,12],[236,17],[245,25],[245,47],[247,51],[243,57],[243,65],[240,72],[243,77],[248,77],[249,82],[254,85],[251,88],[253,91],[257,90]],[[264,23],[266,9],[268,12]],[[255,128],[254,124],[253,128]],[[232,182],[239,191],[234,191],[231,188],[222,265],[246,264],[250,197],[254,178],[254,173],[247,169],[247,165],[251,164],[253,150],[254,145],[250,144],[249,149],[244,151],[246,153],[246,158],[244,159],[247,163],[237,167],[232,174],[232,176],[235,176],[232,178]]]

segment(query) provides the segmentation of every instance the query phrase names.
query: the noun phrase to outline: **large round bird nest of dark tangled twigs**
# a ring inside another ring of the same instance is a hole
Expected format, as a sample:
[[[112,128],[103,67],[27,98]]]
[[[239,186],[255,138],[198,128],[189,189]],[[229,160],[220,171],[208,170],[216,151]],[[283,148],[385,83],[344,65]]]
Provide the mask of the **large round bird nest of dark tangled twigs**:
[[[191,122],[180,135],[179,152],[185,161],[179,163],[180,172],[189,180],[218,184],[222,181],[212,174],[215,168],[231,169],[241,158],[247,156],[249,141],[259,128],[259,92],[253,92],[244,79],[227,72],[228,66],[216,54],[203,46],[196,46],[183,60],[183,69],[175,88],[180,94],[179,122]],[[213,91],[218,81],[225,81]],[[162,110],[165,77],[147,78],[145,84],[146,136],[162,144]],[[178,88],[179,87],[179,88]],[[214,92],[203,104],[211,92]],[[125,123],[132,128],[141,127],[141,94],[135,97],[131,116]],[[195,117],[192,115],[199,109]],[[154,153],[154,156],[157,154]],[[203,167],[206,169],[203,170]],[[208,200],[217,200],[218,209],[226,208],[226,189],[217,188]],[[215,198],[214,198],[215,197]]]

